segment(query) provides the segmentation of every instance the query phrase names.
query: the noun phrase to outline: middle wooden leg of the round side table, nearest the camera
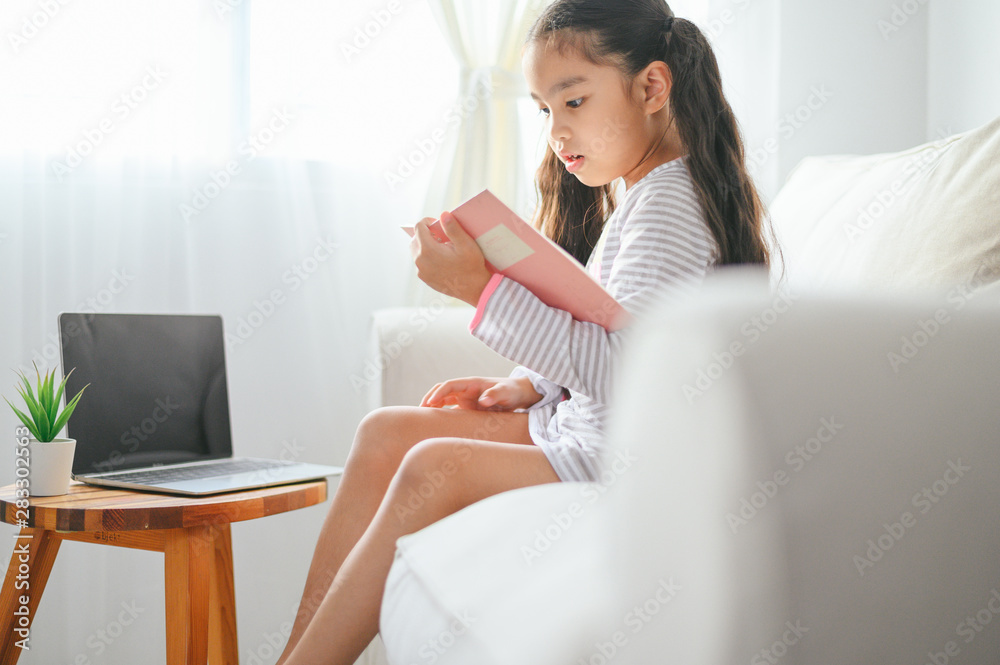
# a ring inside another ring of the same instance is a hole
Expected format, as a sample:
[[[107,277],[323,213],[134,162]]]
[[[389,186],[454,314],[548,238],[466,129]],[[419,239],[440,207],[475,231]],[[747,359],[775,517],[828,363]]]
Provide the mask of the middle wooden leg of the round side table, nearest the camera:
[[[172,529],[164,548],[167,665],[207,665],[211,526]],[[234,661],[235,662],[235,661]]]

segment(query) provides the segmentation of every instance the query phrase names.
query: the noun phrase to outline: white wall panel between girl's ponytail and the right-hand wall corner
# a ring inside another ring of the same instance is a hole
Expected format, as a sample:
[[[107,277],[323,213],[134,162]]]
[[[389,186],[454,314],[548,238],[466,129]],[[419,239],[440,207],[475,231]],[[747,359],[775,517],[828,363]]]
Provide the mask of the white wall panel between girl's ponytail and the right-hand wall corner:
[[[798,115],[788,121],[794,134],[779,155],[782,179],[807,155],[886,152],[924,141],[927,11],[911,1],[917,11],[885,36],[879,22],[892,14],[885,0],[782,3],[779,106],[783,118]]]

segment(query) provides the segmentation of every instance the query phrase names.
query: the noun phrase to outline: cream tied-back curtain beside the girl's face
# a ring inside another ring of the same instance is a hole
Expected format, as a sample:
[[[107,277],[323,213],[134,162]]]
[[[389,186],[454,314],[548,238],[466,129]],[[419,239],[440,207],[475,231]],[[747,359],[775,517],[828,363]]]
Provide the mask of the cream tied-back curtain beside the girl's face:
[[[530,217],[534,173],[524,155],[531,131],[522,121],[529,98],[521,46],[531,23],[551,0],[428,1],[461,69],[424,209],[436,217],[488,188]],[[411,286],[414,303],[442,300],[415,278]]]

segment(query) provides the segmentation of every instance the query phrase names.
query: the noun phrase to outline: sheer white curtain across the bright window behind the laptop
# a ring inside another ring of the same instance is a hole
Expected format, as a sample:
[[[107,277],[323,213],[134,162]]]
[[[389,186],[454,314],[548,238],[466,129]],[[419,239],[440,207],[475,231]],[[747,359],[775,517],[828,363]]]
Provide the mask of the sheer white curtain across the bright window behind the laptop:
[[[5,0],[0,394],[16,398],[12,369],[59,365],[60,311],[220,313],[236,453],[343,464],[391,362],[368,353],[370,315],[404,304],[399,227],[430,178],[386,173],[443,116],[453,71],[426,4],[386,25],[384,0],[332,4]],[[0,456],[0,485],[13,471]],[[241,662],[277,657],[325,512],[233,526]],[[122,603],[141,614],[118,632]],[[66,543],[20,662],[163,663],[164,625],[162,555]]]

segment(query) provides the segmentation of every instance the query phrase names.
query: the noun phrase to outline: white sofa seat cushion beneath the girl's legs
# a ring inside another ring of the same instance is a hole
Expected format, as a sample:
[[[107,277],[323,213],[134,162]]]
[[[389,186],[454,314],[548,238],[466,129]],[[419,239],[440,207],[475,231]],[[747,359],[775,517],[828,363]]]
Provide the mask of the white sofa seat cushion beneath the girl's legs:
[[[380,632],[392,665],[551,665],[608,622],[613,485],[504,492],[397,541]]]

